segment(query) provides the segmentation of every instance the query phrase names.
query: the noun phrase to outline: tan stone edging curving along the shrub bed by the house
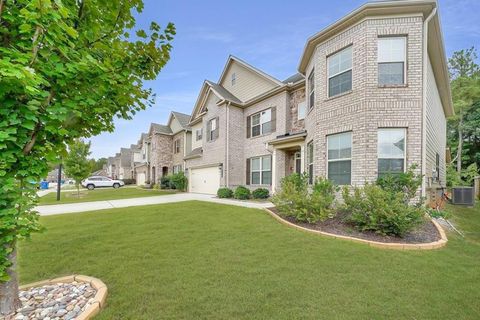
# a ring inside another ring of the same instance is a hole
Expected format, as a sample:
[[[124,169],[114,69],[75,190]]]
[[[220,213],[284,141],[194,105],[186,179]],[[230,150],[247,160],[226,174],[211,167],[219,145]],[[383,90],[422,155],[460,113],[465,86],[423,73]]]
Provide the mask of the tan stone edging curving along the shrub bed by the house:
[[[443,228],[433,219],[431,219],[433,225],[437,228],[438,233],[440,233],[440,240],[434,241],[434,242],[429,242],[429,243],[386,243],[386,242],[378,242],[378,241],[370,241],[370,240],[365,240],[365,239],[360,239],[360,238],[354,238],[354,237],[349,237],[349,236],[342,236],[338,234],[333,234],[333,233],[328,233],[324,231],[319,231],[319,230],[313,230],[313,229],[308,229],[299,225],[296,225],[294,223],[291,223],[279,215],[275,214],[273,211],[269,210],[268,208],[265,208],[265,211],[268,212],[272,217],[274,217],[277,221],[280,223],[287,225],[289,227],[293,227],[295,229],[301,230],[301,231],[306,231],[310,233],[315,233],[315,234],[320,234],[324,235],[327,237],[335,238],[335,239],[343,239],[343,240],[348,240],[348,241],[353,241],[353,242],[360,242],[360,243],[365,243],[368,244],[371,247],[375,248],[382,248],[382,249],[395,249],[395,250],[432,250],[432,249],[439,249],[444,247],[447,244],[447,236],[445,234],[445,231]]]

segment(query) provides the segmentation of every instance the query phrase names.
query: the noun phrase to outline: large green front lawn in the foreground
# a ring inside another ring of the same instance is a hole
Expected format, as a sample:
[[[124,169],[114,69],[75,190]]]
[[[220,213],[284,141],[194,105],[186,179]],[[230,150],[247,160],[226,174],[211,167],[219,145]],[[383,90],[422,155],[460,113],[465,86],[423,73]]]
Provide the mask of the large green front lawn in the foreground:
[[[465,239],[394,251],[204,202],[67,214],[41,219],[19,271],[102,279],[98,319],[478,319],[480,206],[453,220]]]

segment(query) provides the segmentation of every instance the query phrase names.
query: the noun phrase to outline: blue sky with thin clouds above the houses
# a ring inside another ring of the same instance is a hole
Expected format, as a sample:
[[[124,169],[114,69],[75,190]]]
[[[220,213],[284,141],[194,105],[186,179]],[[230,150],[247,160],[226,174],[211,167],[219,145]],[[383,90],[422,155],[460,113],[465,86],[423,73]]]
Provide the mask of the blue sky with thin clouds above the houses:
[[[172,110],[190,114],[205,79],[218,81],[230,54],[279,80],[295,74],[307,38],[366,0],[195,1],[144,0],[137,26],[173,22],[171,58],[154,81],[155,104],[115,131],[91,139],[92,157],[109,157],[137,143],[151,122],[166,124]],[[447,56],[475,46],[480,51],[480,0],[439,0]]]

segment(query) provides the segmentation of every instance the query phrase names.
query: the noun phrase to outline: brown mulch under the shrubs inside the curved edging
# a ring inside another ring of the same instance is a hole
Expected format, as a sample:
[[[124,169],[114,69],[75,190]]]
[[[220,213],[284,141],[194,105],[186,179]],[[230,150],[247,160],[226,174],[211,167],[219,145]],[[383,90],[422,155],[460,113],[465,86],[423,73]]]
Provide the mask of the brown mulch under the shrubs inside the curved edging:
[[[358,231],[355,226],[344,222],[346,214],[344,212],[337,212],[334,218],[327,219],[325,221],[319,221],[314,224],[297,221],[292,217],[285,217],[279,214],[277,208],[268,208],[277,216],[281,217],[288,222],[296,224],[298,226],[333,233],[341,236],[349,236],[364,240],[378,241],[385,243],[430,243],[441,239],[435,225],[429,219],[425,219],[425,222],[418,226],[415,230],[407,233],[403,238],[397,236],[384,236],[373,231]]]

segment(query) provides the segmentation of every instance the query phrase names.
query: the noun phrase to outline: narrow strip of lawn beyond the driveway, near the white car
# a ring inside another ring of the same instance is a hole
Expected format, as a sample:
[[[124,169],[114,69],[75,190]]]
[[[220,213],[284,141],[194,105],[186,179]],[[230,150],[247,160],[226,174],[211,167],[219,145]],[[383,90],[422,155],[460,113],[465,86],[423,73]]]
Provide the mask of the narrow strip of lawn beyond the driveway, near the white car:
[[[76,190],[71,190],[71,191],[69,190],[69,191],[61,192],[60,201],[57,201],[56,192],[49,193],[40,198],[39,205],[152,197],[152,196],[161,196],[164,194],[171,194],[171,193],[173,192],[164,191],[164,190],[154,190],[154,189],[142,189],[142,188],[136,188],[136,187],[122,187],[119,189],[113,189],[113,188],[99,188],[95,190],[81,189],[80,197],[78,197]]]

